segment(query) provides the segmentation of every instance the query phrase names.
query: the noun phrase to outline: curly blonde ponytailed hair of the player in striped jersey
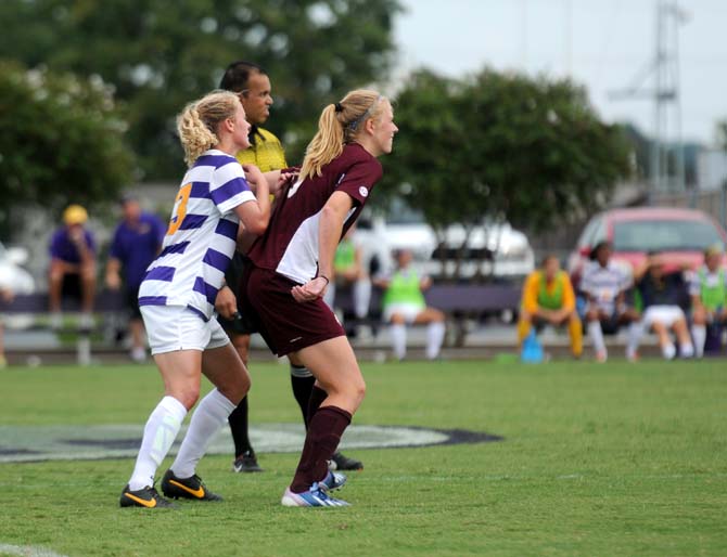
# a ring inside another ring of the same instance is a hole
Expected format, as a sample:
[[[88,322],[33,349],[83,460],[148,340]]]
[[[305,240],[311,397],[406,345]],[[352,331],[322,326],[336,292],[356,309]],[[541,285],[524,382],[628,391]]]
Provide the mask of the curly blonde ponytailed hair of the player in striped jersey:
[[[208,148],[219,143],[217,127],[234,117],[240,99],[230,91],[213,91],[189,103],[177,116],[177,133],[184,150],[184,161],[192,166]]]

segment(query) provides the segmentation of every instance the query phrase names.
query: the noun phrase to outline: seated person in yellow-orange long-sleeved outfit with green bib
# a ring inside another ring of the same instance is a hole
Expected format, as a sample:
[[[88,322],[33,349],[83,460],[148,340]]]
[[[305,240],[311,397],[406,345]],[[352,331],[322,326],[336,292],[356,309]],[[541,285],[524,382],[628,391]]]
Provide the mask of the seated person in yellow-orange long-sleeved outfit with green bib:
[[[546,256],[541,269],[536,269],[525,280],[518,322],[519,350],[533,325],[545,323],[556,326],[567,323],[571,351],[575,358],[581,358],[583,326],[575,311],[575,293],[571,280],[553,255]]]

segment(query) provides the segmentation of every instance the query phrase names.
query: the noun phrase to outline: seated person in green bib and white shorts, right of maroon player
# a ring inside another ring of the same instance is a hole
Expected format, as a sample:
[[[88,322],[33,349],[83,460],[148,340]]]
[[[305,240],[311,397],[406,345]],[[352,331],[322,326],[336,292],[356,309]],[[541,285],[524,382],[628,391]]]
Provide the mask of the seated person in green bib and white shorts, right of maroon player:
[[[384,289],[383,320],[391,323],[394,355],[404,360],[407,353],[407,324],[428,324],[426,358],[439,355],[445,334],[445,314],[429,308],[423,292],[432,285],[429,276],[420,277],[411,269],[411,251],[400,249],[394,255],[396,270],[388,278],[377,278],[375,284]]]

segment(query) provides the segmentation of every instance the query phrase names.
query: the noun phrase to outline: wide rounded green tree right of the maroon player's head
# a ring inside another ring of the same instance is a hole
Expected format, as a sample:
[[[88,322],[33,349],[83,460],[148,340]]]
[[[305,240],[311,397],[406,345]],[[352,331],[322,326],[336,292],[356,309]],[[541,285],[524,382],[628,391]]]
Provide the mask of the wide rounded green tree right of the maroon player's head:
[[[483,222],[536,231],[569,222],[628,172],[624,135],[569,80],[421,70],[397,98],[396,121],[382,185],[421,209],[439,239],[452,223],[469,234]]]

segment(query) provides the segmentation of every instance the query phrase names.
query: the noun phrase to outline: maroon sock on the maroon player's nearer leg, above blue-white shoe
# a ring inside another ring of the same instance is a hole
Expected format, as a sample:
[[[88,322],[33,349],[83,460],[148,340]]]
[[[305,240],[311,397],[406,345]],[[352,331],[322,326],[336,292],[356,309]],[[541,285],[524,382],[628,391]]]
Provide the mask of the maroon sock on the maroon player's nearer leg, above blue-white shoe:
[[[293,493],[308,491],[328,474],[328,461],[339,446],[341,436],[350,424],[350,414],[337,406],[318,409],[308,424],[301,462],[291,483]]]

